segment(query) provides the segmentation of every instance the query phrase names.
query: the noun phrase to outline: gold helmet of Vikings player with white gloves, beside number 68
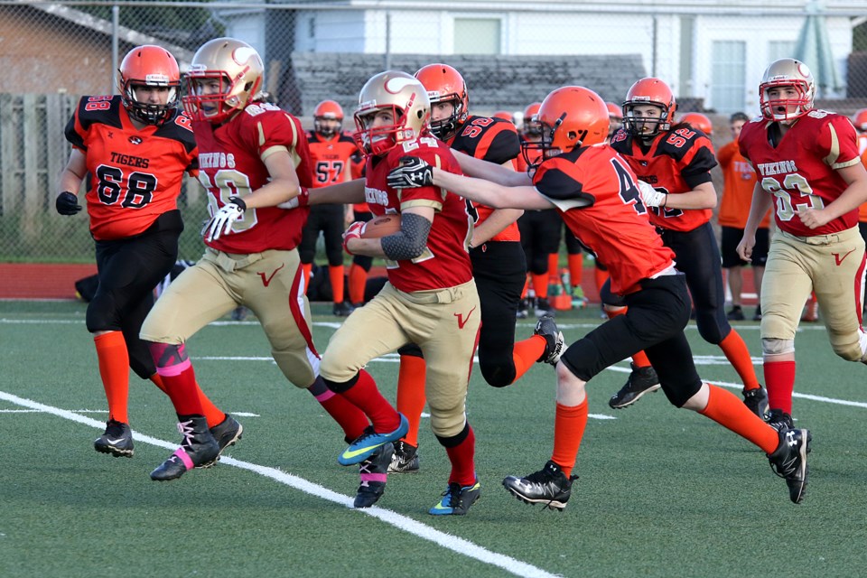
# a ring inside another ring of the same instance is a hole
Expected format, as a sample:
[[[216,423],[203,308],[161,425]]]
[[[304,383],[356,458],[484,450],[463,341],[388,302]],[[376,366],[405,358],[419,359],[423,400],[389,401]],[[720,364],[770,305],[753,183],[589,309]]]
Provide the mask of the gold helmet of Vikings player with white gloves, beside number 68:
[[[265,66],[256,49],[234,38],[205,42],[192,57],[183,107],[218,125],[261,98]],[[208,87],[216,82],[216,90]]]

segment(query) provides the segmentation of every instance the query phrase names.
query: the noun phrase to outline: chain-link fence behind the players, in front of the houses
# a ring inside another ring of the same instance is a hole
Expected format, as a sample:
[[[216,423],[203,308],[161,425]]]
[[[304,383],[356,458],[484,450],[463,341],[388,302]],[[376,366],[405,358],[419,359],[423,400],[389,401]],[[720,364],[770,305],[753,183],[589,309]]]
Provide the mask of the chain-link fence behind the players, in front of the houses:
[[[473,112],[517,117],[559,86],[587,86],[619,104],[634,80],[658,76],[681,111],[712,118],[717,146],[732,112],[758,112],[761,72],[781,57],[811,66],[820,107],[846,115],[867,107],[863,0],[0,0],[0,262],[92,262],[88,219],[53,208],[70,153],[63,128],[79,96],[115,92],[117,63],[136,45],[162,45],[185,70],[201,43],[221,35],[256,47],[266,90],[308,127],[312,108],[331,98],[349,128],[370,76],[434,61],[461,70]],[[182,258],[196,259],[206,216],[196,182],[186,182],[180,204]]]

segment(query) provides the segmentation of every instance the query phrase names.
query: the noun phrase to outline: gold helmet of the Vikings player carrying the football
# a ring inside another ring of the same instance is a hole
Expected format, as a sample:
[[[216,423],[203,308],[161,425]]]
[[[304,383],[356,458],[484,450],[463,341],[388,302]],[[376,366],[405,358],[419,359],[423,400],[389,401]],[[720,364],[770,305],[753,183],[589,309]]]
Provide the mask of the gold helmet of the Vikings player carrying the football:
[[[391,112],[391,125],[372,126],[371,121],[380,111]],[[397,144],[421,135],[430,118],[431,101],[422,83],[406,72],[386,70],[361,88],[359,107],[355,109],[355,142],[364,154],[385,154]]]

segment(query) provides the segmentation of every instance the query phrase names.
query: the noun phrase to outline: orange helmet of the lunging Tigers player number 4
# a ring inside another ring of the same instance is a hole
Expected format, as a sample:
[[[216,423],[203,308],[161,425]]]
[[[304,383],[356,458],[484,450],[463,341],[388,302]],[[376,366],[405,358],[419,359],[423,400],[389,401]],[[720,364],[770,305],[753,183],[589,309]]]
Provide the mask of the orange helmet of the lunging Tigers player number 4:
[[[605,101],[591,89],[583,87],[562,87],[556,89],[542,101],[536,114],[542,139],[537,142],[525,141],[521,144],[524,160],[532,166],[530,159],[541,161],[568,153],[579,146],[592,146],[604,143],[608,138],[610,124],[608,107]],[[529,151],[539,150],[536,157]]]

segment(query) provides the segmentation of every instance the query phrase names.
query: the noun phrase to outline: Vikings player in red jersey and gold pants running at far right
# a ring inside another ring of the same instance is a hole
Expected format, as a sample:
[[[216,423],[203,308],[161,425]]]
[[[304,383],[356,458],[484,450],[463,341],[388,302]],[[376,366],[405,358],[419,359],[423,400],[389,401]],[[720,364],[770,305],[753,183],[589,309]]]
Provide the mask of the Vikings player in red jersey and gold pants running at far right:
[[[852,123],[814,108],[815,94],[806,64],[790,58],[771,63],[759,85],[761,116],[743,126],[738,140],[758,178],[738,245],[741,258],[750,259],[769,209],[778,228],[761,291],[761,350],[773,424],[792,423],[795,332],[811,290],[834,353],[867,363],[864,240],[858,231],[867,171]]]

